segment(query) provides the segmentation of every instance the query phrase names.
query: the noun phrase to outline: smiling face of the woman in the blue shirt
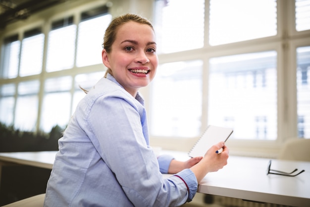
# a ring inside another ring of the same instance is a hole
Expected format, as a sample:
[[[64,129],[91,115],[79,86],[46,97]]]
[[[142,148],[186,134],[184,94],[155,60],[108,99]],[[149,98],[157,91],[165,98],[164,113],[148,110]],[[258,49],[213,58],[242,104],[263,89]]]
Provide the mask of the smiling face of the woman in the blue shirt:
[[[135,97],[156,73],[155,33],[147,24],[127,22],[118,28],[110,53],[103,49],[102,57],[117,82]]]

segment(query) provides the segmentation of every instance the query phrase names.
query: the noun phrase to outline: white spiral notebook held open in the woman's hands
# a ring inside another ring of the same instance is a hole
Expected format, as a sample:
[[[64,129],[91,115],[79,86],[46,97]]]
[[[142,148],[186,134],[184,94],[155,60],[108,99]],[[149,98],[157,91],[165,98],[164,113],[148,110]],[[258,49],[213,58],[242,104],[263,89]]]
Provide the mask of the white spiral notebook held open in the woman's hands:
[[[188,155],[190,157],[204,156],[211,146],[220,141],[226,141],[232,133],[233,129],[231,128],[209,125],[201,138],[188,152]]]

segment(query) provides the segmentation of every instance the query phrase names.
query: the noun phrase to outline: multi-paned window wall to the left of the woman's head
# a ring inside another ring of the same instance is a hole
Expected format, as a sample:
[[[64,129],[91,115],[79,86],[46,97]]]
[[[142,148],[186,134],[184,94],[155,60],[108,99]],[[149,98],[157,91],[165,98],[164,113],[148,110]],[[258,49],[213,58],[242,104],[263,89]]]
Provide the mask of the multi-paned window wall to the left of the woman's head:
[[[50,132],[55,125],[64,128],[85,96],[78,85],[89,89],[103,77],[102,41],[111,15],[106,6],[78,13],[49,19],[47,22],[52,23],[48,38],[40,27],[34,27],[18,32],[22,34],[21,41],[17,34],[3,39],[0,78],[5,81],[0,82],[1,123],[23,131]],[[74,19],[78,15],[81,18],[76,24]],[[47,72],[42,73],[44,68]]]

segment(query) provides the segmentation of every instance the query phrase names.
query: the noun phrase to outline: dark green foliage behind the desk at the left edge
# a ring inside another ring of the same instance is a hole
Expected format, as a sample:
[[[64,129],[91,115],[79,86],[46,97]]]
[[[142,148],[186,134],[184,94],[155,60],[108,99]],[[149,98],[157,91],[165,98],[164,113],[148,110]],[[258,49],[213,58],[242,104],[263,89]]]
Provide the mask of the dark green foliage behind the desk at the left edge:
[[[58,139],[63,129],[58,125],[50,133],[22,132],[13,126],[0,123],[0,152],[54,151],[58,150]]]

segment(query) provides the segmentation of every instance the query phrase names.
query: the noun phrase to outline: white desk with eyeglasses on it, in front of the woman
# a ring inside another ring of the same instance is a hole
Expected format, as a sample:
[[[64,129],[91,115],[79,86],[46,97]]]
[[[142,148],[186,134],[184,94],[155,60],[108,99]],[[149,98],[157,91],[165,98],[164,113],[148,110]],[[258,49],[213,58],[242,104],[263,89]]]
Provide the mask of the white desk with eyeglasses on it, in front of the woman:
[[[189,158],[184,152],[161,153],[172,154],[179,160]],[[0,153],[0,161],[52,169],[55,154],[55,151]],[[267,158],[230,156],[223,169],[207,174],[199,184],[198,192],[263,203],[309,207],[310,162],[272,160],[271,169],[274,170],[306,170],[297,177],[266,175],[268,162]]]

